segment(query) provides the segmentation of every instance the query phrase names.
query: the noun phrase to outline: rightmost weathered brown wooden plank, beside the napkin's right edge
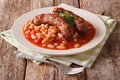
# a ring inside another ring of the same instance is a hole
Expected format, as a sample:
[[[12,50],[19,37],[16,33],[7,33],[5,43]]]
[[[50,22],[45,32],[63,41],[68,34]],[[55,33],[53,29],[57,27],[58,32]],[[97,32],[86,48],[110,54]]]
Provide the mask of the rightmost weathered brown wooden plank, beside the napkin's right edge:
[[[93,13],[104,14],[118,20],[118,24],[103,47],[87,80],[119,80],[120,78],[120,0],[81,0],[80,7]]]

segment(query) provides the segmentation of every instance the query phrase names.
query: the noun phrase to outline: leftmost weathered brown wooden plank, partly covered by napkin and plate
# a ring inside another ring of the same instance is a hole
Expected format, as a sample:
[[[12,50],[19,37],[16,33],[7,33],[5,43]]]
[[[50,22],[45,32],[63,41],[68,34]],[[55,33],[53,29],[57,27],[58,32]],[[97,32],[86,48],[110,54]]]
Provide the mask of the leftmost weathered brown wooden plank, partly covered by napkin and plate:
[[[28,10],[26,2],[0,0],[0,31],[10,29],[14,20]],[[17,59],[13,54],[15,48],[3,39],[0,45],[0,80],[24,80],[26,61]]]

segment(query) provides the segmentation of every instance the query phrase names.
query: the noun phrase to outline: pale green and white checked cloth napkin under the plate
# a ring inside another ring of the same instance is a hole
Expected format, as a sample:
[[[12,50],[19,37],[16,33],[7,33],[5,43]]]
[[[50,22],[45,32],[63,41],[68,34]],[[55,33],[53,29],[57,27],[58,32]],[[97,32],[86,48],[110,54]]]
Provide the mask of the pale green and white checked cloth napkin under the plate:
[[[66,4],[61,4],[60,6],[67,6],[67,7],[71,7],[68,6]],[[70,66],[72,63],[75,63],[77,65],[80,66],[85,66],[87,68],[90,68],[93,64],[93,62],[96,60],[98,54],[100,53],[102,47],[104,46],[106,40],[108,39],[110,33],[113,31],[115,25],[116,25],[116,21],[114,19],[111,19],[110,17],[107,16],[102,16],[102,15],[97,15],[106,25],[106,29],[107,29],[107,33],[105,38],[103,39],[103,41],[96,46],[95,48],[78,54],[78,55],[73,55],[73,56],[66,56],[66,57],[52,57],[52,56],[48,56],[48,55],[43,55],[40,53],[36,53],[33,52],[29,49],[24,48],[24,46],[22,46],[21,44],[19,44],[13,34],[12,34],[12,30],[7,30],[7,31],[3,31],[0,33],[0,36],[5,39],[8,43],[10,43],[11,45],[13,45],[14,47],[16,47],[18,50],[20,50],[21,52],[23,52],[26,55],[30,55],[30,56],[34,56],[40,59],[46,59],[48,58],[51,61],[55,61],[57,63],[61,63],[64,64],[66,66]],[[36,62],[36,61],[33,61]]]

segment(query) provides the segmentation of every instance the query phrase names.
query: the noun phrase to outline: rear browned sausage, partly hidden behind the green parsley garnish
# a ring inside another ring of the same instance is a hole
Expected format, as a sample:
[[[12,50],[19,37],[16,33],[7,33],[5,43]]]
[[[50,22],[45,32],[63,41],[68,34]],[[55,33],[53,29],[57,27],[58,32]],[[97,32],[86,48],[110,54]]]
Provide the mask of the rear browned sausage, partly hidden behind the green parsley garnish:
[[[86,21],[85,21],[82,17],[74,14],[74,13],[71,12],[71,11],[65,10],[65,9],[63,9],[63,8],[58,8],[58,7],[56,7],[56,8],[53,9],[53,14],[59,15],[60,12],[65,12],[65,11],[67,11],[70,15],[72,15],[72,16],[75,18],[75,19],[74,19],[74,22],[75,22],[75,24],[76,24],[77,31],[78,31],[80,34],[85,34],[85,33],[87,33],[88,27],[87,27],[87,25],[86,25]]]

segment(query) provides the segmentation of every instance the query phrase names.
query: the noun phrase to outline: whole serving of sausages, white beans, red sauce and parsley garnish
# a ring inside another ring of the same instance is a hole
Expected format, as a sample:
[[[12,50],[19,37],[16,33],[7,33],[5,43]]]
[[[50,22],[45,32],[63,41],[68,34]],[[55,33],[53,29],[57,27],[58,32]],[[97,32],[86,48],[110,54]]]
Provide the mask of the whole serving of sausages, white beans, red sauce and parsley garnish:
[[[79,48],[93,39],[94,26],[82,17],[63,8],[52,13],[39,14],[23,26],[25,38],[47,49]]]

